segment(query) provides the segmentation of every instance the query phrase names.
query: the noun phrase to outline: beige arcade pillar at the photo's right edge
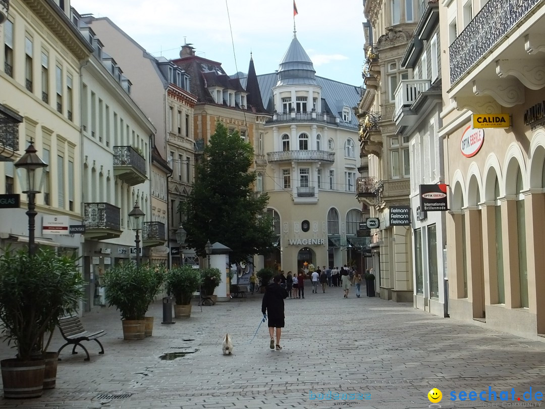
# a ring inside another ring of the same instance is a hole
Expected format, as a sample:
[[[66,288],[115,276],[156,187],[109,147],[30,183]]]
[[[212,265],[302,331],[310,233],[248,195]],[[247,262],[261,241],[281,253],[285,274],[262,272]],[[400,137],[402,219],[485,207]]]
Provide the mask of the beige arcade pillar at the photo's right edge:
[[[528,258],[528,304],[537,315],[537,333],[545,334],[545,195],[541,189],[524,192],[526,212],[526,257]]]

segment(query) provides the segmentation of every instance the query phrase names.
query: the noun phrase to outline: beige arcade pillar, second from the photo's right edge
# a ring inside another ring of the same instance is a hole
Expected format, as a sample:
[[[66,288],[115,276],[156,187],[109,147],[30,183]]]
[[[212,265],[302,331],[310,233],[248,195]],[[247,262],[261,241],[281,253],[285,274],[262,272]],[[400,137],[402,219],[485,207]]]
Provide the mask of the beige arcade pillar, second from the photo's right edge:
[[[518,231],[516,196],[500,198],[501,231],[504,240],[505,306],[520,307],[520,281],[518,279]]]

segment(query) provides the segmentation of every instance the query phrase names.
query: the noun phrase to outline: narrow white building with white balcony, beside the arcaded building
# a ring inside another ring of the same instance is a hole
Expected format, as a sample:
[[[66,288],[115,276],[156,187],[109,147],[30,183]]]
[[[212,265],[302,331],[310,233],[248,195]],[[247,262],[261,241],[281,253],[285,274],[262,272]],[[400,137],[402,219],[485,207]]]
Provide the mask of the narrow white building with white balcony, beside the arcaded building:
[[[401,59],[401,67],[409,71],[410,78],[401,80],[396,88],[393,121],[398,135],[409,137],[414,306],[447,316],[443,260],[446,213],[445,210],[427,212],[421,206],[425,185],[445,182],[443,145],[438,137],[443,126],[439,3],[426,2],[421,11],[414,37]]]

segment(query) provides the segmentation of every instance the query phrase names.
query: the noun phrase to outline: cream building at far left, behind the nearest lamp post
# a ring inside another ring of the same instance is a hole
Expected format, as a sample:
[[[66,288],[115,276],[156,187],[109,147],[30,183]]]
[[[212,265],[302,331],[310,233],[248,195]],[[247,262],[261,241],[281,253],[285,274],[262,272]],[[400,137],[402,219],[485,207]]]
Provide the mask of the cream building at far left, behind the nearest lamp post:
[[[36,243],[81,255],[80,234],[44,234],[49,217],[66,227],[82,225],[80,68],[92,47],[70,22],[70,2],[10,1],[0,25],[0,104],[21,116],[19,138],[0,147],[16,161],[33,140],[49,165],[43,193],[37,194]],[[0,131],[1,132],[1,131]],[[21,193],[13,162],[0,165],[0,194]],[[21,207],[0,209],[0,248],[28,242],[27,197]]]

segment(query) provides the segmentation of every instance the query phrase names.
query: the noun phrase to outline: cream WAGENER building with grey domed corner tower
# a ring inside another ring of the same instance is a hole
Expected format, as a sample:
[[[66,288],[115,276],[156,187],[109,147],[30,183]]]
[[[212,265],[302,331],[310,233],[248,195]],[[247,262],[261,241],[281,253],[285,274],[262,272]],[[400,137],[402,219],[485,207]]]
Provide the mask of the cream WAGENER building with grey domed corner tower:
[[[361,266],[353,111],[361,89],[315,74],[294,33],[278,71],[257,76],[272,113],[265,123],[267,168],[261,183],[270,196],[276,234],[263,263],[286,273],[301,270],[304,262]]]

